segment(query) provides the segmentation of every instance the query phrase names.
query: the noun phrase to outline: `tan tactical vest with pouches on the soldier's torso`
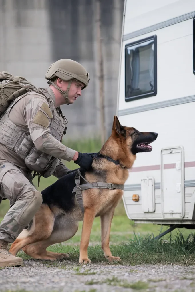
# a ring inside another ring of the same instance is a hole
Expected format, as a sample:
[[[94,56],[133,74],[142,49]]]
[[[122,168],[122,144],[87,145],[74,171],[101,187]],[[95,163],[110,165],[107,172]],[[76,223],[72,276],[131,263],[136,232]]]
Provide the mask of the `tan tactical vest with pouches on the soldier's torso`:
[[[53,115],[50,124],[50,134],[56,138],[56,140],[61,142],[63,134],[66,133],[66,118],[63,116],[60,108],[55,108],[54,102],[46,90],[39,89],[38,92],[32,91],[27,94],[29,95],[34,93],[39,95],[44,102],[48,102]],[[32,171],[40,172],[44,177],[48,177],[54,172],[58,163],[58,158],[38,150],[34,146],[29,131],[24,132],[23,129],[16,126],[9,119],[9,113],[12,107],[23,97],[24,95],[16,98],[8,107],[6,112],[1,116],[0,143],[5,145],[8,149],[14,150],[15,153],[25,161],[27,168]]]

